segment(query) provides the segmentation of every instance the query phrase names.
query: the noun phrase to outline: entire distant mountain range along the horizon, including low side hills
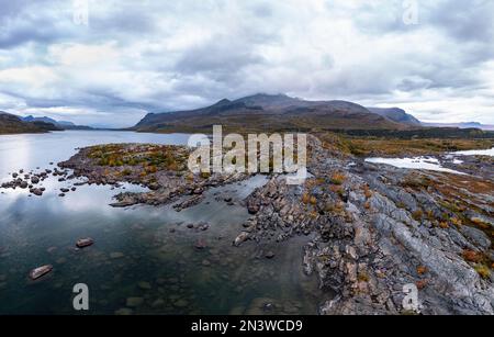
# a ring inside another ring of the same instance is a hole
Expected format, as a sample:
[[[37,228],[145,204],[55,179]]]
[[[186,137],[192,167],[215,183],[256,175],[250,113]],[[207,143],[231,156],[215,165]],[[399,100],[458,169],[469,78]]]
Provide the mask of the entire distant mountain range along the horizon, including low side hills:
[[[422,128],[479,128],[494,125],[469,123],[422,123],[400,108],[364,108],[347,101],[307,101],[285,94],[258,93],[234,101],[186,111],[148,113],[135,126],[137,132],[210,133],[213,125],[229,132],[310,132],[310,131],[413,131]],[[32,115],[19,117],[0,112],[0,134],[92,130],[72,122]]]

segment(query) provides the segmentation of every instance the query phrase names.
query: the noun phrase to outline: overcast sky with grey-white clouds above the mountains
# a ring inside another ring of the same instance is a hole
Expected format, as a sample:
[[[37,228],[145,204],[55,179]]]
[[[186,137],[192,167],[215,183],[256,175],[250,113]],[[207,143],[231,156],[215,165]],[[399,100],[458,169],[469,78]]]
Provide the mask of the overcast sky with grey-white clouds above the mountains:
[[[0,0],[1,111],[122,127],[258,92],[494,124],[494,1]]]

